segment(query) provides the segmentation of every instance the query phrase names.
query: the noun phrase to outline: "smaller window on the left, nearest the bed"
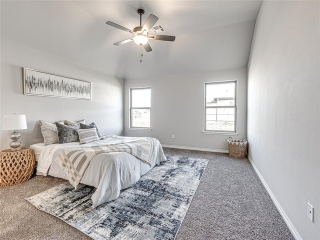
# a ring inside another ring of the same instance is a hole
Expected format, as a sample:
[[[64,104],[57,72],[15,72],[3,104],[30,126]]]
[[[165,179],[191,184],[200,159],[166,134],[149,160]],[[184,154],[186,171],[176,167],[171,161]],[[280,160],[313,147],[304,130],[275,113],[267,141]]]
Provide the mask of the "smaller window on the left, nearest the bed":
[[[130,127],[150,128],[151,88],[130,88]]]

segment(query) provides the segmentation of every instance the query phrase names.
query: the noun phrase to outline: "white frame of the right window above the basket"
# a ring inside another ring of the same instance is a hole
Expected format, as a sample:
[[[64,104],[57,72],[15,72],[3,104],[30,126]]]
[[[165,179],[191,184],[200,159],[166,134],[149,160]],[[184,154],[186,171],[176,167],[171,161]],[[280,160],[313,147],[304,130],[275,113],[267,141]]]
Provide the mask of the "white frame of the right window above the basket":
[[[226,83],[226,82],[234,82],[234,106],[206,106],[206,86],[207,84],[219,84],[219,83]],[[233,130],[208,130],[206,129],[206,109],[207,108],[234,108],[234,129]],[[225,80],[225,81],[210,81],[204,82],[204,130],[202,131],[203,134],[218,134],[218,135],[237,135],[236,127],[236,112],[237,111],[237,80]]]

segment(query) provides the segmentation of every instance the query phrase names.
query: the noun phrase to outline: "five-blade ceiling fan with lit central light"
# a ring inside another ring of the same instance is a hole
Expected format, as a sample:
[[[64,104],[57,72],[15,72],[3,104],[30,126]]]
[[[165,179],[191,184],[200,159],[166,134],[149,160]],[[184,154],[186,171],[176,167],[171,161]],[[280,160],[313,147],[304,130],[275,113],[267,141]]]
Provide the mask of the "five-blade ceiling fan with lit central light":
[[[124,27],[124,26],[120,26],[114,22],[111,21],[107,21],[105,22],[106,24],[116,27],[120,30],[123,31],[128,31],[130,33],[133,34],[133,36],[131,38],[122,40],[122,41],[118,41],[116,43],[113,43],[113,45],[121,45],[130,41],[134,41],[136,44],[140,45],[141,48],[143,46],[145,51],[152,51],[152,48],[150,46],[150,44],[148,43],[149,39],[155,39],[155,40],[163,40],[163,41],[174,41],[175,40],[175,36],[167,36],[167,35],[149,35],[148,31],[151,29],[151,27],[154,25],[154,23],[159,19],[157,16],[150,14],[148,16],[148,18],[146,18],[143,26],[141,25],[141,16],[144,13],[143,9],[138,9],[137,10],[138,14],[140,15],[140,26],[136,26],[133,28],[133,31]],[[141,49],[142,50],[142,49]],[[142,54],[142,53],[141,53]]]

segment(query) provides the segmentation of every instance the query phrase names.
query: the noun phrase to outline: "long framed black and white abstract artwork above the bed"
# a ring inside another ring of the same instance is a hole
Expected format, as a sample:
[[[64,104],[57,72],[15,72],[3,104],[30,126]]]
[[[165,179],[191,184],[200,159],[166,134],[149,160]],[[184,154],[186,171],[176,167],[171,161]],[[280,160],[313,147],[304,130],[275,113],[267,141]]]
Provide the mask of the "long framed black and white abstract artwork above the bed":
[[[24,94],[91,99],[91,83],[23,67]]]

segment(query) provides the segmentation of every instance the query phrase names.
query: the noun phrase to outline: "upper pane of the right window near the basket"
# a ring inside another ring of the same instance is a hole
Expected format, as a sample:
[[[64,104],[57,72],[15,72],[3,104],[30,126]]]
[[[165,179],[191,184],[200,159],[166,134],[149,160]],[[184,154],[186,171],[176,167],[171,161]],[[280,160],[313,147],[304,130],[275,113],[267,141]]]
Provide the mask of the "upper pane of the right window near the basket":
[[[235,81],[205,83],[206,106],[234,106]]]

